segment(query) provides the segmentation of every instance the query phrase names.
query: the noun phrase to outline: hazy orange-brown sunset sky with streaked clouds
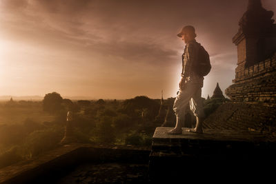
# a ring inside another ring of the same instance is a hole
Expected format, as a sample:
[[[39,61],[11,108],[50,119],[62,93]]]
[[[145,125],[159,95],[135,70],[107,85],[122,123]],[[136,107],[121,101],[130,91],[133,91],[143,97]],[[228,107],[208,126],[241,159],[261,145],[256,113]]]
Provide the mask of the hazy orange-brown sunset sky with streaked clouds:
[[[175,97],[193,25],[210,54],[202,96],[235,78],[248,0],[0,0],[0,96]],[[263,0],[276,12],[275,0]],[[275,16],[273,17],[275,19]]]

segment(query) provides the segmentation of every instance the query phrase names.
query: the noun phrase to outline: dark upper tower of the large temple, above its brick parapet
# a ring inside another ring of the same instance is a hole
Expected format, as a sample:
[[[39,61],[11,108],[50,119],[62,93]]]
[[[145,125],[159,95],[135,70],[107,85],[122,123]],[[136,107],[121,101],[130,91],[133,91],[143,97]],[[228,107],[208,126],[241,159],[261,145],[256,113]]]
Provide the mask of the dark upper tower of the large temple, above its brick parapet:
[[[274,53],[276,24],[273,23],[273,12],[265,10],[261,0],[248,0],[248,8],[233,37],[233,43],[237,45],[236,78],[245,68],[268,59]]]

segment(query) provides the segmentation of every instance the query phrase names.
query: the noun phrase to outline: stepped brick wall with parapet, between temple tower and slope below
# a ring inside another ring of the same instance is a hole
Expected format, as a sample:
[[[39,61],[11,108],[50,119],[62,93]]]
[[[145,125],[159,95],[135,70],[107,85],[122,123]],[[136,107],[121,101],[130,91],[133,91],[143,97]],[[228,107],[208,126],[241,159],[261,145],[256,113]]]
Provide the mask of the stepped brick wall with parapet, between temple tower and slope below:
[[[225,93],[233,101],[276,103],[276,52],[244,70],[236,70],[234,84]]]

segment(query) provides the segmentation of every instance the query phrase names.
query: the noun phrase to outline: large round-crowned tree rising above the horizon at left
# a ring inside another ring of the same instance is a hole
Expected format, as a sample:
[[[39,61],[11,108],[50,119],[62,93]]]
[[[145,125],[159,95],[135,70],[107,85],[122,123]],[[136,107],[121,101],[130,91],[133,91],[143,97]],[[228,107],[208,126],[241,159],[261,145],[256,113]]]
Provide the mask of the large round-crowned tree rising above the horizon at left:
[[[62,109],[61,103],[63,99],[57,92],[48,93],[44,96],[42,101],[43,110],[52,114],[59,112]]]

